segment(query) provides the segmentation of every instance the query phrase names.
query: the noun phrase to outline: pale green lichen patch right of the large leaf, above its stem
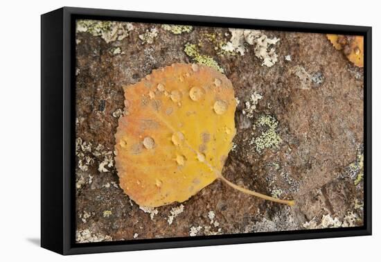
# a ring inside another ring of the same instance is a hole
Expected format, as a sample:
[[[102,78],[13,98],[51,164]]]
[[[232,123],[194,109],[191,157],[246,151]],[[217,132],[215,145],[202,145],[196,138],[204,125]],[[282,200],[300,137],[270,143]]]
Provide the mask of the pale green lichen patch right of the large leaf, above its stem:
[[[263,131],[259,137],[256,137],[251,141],[251,144],[254,143],[257,152],[260,153],[265,148],[279,148],[279,145],[282,143],[282,139],[278,132],[276,132],[276,128],[278,128],[278,121],[276,121],[274,116],[262,115],[256,121],[254,126],[257,128],[267,128],[267,130]]]

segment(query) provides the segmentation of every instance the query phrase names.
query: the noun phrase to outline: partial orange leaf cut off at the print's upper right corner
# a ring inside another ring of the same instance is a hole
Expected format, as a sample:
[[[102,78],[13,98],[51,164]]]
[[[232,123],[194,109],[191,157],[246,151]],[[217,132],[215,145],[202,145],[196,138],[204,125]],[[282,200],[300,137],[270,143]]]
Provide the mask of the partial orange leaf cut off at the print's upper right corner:
[[[327,35],[335,49],[342,50],[356,67],[364,67],[364,37],[356,35]]]

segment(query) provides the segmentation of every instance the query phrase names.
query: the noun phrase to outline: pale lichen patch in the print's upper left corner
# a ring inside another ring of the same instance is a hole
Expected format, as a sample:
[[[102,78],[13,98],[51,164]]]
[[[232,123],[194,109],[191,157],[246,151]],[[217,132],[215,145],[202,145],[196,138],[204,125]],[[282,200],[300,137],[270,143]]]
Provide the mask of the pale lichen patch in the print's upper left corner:
[[[121,21],[99,21],[81,19],[77,21],[76,33],[90,33],[96,37],[102,37],[106,43],[121,41],[134,29],[131,23]]]

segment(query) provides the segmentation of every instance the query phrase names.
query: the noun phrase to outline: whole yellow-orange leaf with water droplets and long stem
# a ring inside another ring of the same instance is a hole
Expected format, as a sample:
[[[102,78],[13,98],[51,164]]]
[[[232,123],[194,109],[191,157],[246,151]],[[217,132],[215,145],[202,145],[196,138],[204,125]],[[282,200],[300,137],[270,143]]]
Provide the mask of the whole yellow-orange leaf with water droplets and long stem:
[[[172,64],[124,90],[115,161],[120,186],[134,202],[184,202],[216,179],[262,196],[221,175],[236,134],[236,99],[226,76],[202,64]]]

